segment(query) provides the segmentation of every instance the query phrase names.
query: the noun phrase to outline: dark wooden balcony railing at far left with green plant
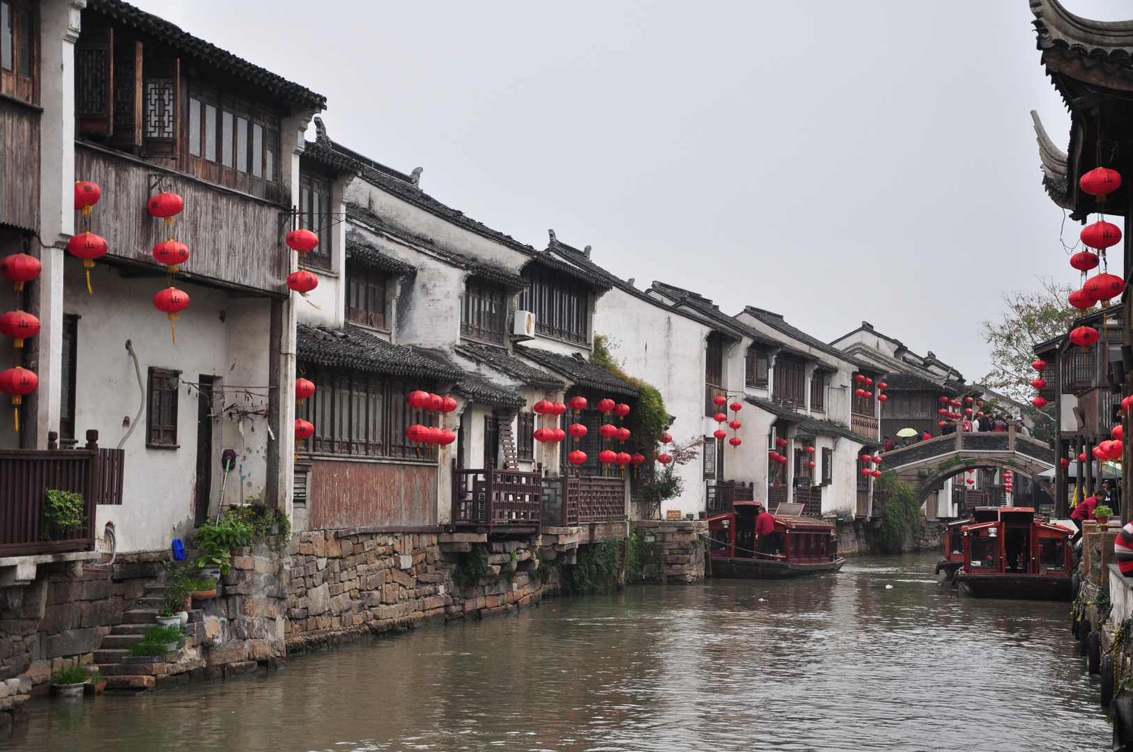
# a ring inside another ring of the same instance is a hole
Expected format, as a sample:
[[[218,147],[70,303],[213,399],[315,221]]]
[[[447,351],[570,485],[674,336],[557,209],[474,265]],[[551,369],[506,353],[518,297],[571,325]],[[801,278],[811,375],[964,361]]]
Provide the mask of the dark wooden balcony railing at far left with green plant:
[[[121,504],[123,450],[0,451],[0,556],[94,550],[95,509]],[[43,519],[48,490],[83,495],[83,525],[59,533]]]

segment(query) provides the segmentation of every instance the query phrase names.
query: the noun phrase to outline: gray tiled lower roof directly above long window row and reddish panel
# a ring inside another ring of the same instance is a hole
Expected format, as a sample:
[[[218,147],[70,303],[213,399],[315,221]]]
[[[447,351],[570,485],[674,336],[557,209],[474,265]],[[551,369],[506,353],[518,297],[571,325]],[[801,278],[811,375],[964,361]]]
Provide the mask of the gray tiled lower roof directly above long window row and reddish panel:
[[[452,366],[438,364],[349,324],[341,330],[296,325],[296,354],[325,366],[350,366],[399,376],[457,381],[465,375]]]

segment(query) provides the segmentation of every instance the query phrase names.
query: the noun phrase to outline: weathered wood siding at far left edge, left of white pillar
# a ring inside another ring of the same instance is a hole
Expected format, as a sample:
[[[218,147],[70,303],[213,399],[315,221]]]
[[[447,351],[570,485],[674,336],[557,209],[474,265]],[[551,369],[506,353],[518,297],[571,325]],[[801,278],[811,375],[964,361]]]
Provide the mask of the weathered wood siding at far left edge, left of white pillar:
[[[40,227],[40,111],[0,99],[0,224]]]

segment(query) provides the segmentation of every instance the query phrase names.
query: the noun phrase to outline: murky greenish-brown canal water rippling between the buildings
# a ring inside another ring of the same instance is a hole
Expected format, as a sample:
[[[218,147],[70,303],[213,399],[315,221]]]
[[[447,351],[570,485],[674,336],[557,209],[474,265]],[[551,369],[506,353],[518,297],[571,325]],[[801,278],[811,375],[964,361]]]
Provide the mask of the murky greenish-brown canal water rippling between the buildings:
[[[270,675],[41,699],[0,749],[1109,749],[1068,604],[960,598],[934,563],[631,587],[292,656]]]

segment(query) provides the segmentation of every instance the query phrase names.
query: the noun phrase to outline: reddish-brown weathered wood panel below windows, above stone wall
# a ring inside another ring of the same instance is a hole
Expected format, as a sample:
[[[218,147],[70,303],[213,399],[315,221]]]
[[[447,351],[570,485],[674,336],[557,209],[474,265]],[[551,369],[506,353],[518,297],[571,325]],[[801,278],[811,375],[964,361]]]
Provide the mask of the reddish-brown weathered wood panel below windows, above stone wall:
[[[315,460],[312,529],[436,524],[436,465]]]

